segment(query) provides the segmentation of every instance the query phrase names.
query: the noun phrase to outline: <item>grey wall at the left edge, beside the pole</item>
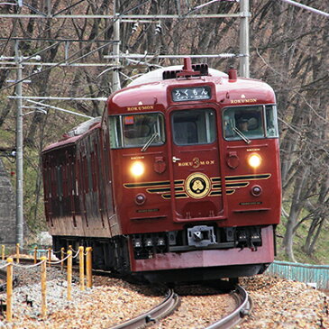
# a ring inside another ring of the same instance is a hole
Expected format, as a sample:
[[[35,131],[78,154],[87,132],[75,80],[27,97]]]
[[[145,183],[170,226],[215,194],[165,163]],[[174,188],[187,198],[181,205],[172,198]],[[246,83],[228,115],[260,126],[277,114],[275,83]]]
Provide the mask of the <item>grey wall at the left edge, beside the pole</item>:
[[[15,206],[14,188],[0,159],[0,244],[15,243]]]

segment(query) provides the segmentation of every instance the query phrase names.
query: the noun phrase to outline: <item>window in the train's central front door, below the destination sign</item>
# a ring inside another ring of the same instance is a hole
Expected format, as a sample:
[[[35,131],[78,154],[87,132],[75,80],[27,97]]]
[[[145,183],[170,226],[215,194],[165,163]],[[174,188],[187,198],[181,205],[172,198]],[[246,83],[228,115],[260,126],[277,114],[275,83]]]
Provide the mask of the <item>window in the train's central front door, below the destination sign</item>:
[[[215,142],[215,111],[199,109],[177,111],[171,116],[172,135],[177,145]]]

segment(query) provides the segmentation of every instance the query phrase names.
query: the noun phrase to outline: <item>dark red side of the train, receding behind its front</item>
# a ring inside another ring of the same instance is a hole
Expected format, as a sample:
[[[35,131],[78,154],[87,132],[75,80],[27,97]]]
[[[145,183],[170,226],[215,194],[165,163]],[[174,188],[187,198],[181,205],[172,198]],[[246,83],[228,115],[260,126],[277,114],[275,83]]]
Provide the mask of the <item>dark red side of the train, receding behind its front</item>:
[[[111,176],[103,165],[100,137],[100,129],[94,128],[74,142],[60,142],[43,151],[45,212],[53,236],[112,236]]]

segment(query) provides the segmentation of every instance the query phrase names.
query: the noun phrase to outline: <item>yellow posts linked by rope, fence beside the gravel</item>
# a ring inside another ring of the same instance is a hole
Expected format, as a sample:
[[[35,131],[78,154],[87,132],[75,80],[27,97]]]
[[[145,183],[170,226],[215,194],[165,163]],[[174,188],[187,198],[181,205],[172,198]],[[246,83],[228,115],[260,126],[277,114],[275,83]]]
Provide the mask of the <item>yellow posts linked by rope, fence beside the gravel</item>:
[[[5,260],[5,246],[2,245],[2,260]],[[92,248],[87,247],[86,252],[84,247],[79,247],[75,255],[73,255],[73,250],[69,246],[69,251],[65,252],[64,248],[60,251],[60,260],[51,261],[51,249],[48,249],[48,257],[42,256],[41,261],[37,262],[38,249],[34,248],[34,264],[33,265],[20,265],[20,246],[17,243],[15,259],[13,257],[8,257],[7,262],[0,269],[5,269],[7,272],[7,302],[6,302],[6,320],[11,322],[13,320],[13,277],[14,277],[14,267],[32,268],[36,266],[41,267],[41,317],[47,317],[47,266],[59,265],[61,270],[64,270],[64,263],[67,263],[67,279],[68,279],[68,291],[67,299],[71,300],[71,289],[72,289],[72,260],[78,257],[79,263],[79,288],[85,290],[85,258],[86,258],[86,286],[87,288],[92,288],[93,278],[92,278]]]

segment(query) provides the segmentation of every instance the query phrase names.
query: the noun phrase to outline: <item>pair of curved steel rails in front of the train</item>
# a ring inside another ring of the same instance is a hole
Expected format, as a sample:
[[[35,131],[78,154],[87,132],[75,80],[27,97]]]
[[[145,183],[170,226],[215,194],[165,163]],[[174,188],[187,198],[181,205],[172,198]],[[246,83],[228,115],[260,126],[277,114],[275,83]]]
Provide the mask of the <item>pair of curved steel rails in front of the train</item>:
[[[251,312],[251,298],[244,288],[234,285],[231,288],[231,295],[235,300],[235,308],[229,315],[224,316],[206,329],[229,329],[243,321],[245,315]],[[166,299],[159,305],[151,309],[151,311],[139,315],[122,324],[112,326],[111,329],[138,329],[149,324],[155,324],[160,319],[165,318],[179,306],[179,297],[172,289],[169,289]]]

